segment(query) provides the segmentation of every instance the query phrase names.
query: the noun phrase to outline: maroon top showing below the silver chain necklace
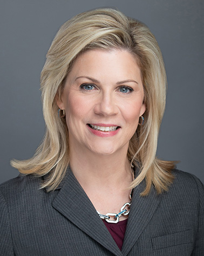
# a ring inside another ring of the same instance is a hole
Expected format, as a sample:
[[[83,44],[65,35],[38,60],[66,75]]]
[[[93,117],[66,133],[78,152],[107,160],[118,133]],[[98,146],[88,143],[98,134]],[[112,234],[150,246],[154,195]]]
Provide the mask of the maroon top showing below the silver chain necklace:
[[[121,220],[117,224],[109,223],[106,220],[103,220],[104,224],[106,225],[108,231],[112,235],[113,239],[115,240],[116,244],[118,245],[120,251],[123,246],[123,240],[125,237],[125,230],[127,226],[127,220]]]

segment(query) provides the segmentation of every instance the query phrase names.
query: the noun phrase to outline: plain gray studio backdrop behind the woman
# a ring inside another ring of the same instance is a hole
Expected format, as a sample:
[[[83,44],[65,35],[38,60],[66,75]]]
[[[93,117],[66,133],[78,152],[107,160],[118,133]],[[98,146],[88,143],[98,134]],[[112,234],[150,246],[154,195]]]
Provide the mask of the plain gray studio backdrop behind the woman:
[[[60,25],[98,7],[115,6],[146,23],[157,38],[168,78],[158,156],[203,174],[203,0],[2,0],[0,4],[0,183],[18,175],[12,158],[28,159],[44,135],[39,76]]]

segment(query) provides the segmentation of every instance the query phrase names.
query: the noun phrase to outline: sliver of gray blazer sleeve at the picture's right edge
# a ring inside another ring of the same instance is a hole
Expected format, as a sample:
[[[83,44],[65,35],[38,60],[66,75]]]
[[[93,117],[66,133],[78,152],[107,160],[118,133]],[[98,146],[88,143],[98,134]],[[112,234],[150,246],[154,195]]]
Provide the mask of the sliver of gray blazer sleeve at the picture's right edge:
[[[193,175],[194,176],[194,175]],[[204,186],[202,182],[194,176],[199,192],[199,212],[198,212],[198,229],[194,250],[191,256],[204,255]]]

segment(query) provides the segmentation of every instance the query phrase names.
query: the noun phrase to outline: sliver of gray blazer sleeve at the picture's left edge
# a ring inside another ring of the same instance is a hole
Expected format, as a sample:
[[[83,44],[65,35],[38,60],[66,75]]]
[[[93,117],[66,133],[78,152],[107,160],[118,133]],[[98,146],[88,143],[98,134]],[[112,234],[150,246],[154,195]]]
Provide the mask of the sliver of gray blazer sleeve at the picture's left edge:
[[[0,255],[11,256],[13,254],[12,237],[9,212],[5,198],[0,191]]]

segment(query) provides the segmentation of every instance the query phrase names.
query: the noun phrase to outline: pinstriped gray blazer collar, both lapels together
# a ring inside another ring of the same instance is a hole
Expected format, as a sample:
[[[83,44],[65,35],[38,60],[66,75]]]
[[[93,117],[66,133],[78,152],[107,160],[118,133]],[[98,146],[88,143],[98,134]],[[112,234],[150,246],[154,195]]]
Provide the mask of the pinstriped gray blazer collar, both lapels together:
[[[70,168],[67,169],[66,178],[60,183],[60,187],[59,193],[52,201],[52,206],[87,235],[118,256],[127,255],[130,252],[160,202],[160,196],[154,188],[148,196],[140,196],[145,188],[145,181],[134,188],[123,248],[120,251]]]

